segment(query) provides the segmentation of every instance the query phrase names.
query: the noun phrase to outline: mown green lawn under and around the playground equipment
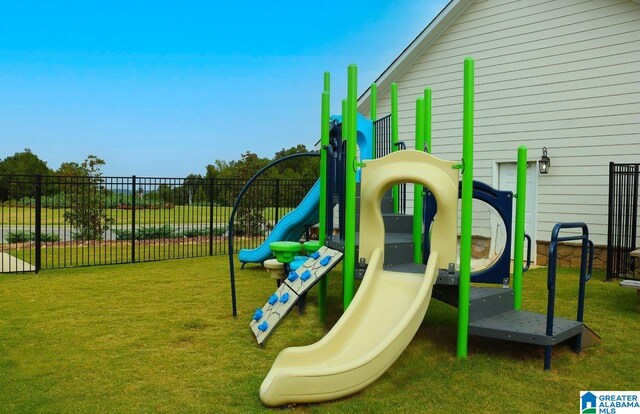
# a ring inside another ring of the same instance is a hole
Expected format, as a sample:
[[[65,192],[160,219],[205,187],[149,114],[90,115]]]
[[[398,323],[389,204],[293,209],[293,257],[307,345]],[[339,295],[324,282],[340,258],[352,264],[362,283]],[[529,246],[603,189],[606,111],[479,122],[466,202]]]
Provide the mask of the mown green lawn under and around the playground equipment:
[[[603,341],[574,354],[472,338],[455,358],[456,311],[433,301],[404,354],[364,391],[294,412],[577,412],[580,390],[637,390],[640,314],[635,291],[587,287],[586,323]],[[239,316],[230,316],[225,257],[51,270],[0,276],[0,411],[256,412],[258,389],[287,346],[319,340],[330,326],[292,312],[263,348],[253,310],[275,288],[264,270],[238,271]],[[330,280],[330,322],[340,281]],[[546,306],[546,269],[525,274],[524,308]],[[561,269],[557,313],[571,316],[577,276]]]

